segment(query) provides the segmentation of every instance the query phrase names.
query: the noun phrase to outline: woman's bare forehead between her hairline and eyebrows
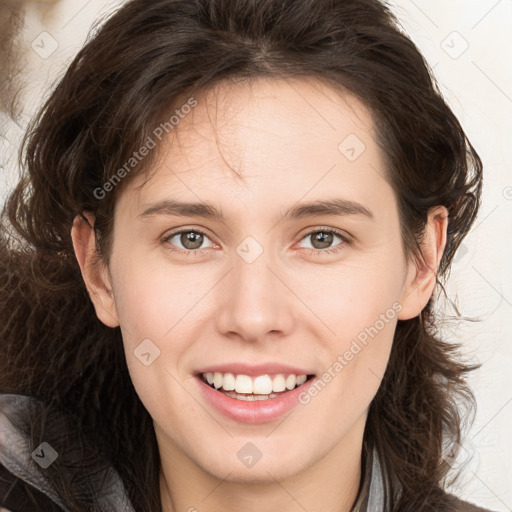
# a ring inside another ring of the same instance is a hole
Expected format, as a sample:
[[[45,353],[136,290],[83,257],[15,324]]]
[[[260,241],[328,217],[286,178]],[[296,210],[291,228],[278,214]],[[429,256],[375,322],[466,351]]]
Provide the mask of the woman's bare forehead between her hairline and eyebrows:
[[[311,77],[258,78],[222,82],[195,100],[162,142],[149,179],[128,187],[134,207],[169,194],[206,199],[205,189],[208,199],[247,203],[387,187],[371,112],[353,95]]]

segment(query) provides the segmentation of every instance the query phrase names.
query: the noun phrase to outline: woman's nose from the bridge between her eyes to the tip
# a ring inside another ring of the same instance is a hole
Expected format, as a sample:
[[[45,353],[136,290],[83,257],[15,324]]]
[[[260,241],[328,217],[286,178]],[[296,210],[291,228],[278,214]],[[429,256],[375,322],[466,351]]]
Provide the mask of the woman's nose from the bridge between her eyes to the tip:
[[[275,259],[254,238],[236,248],[230,277],[222,289],[218,327],[251,341],[291,326],[290,294],[276,275]]]

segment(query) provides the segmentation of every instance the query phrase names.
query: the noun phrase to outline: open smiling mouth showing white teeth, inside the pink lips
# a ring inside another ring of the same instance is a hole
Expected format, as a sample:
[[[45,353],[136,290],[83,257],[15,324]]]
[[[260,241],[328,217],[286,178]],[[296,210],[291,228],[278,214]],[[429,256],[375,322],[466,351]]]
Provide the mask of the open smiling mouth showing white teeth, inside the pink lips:
[[[277,373],[249,376],[206,372],[198,377],[211,389],[235,400],[254,402],[279,398],[313,379],[315,375]]]

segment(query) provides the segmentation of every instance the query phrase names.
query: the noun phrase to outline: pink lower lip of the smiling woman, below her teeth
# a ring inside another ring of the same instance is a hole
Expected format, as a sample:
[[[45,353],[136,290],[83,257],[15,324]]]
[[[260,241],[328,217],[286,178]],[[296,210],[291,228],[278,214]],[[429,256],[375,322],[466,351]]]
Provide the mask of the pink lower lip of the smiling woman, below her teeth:
[[[299,395],[307,391],[314,378],[278,397],[250,402],[237,400],[216,391],[206,384],[201,376],[197,376],[197,380],[206,399],[224,416],[242,423],[266,423],[284,416],[294,406],[299,405]]]

